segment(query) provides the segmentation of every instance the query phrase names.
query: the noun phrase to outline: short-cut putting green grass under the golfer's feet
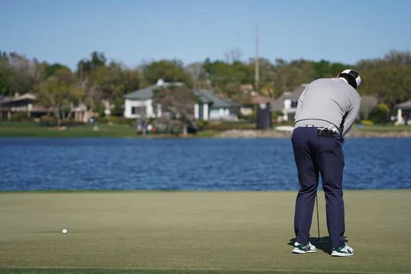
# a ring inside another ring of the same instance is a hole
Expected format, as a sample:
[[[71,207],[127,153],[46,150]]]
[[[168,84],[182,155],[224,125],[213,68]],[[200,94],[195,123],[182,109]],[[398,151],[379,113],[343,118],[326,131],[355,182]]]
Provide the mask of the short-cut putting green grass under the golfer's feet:
[[[0,273],[411,272],[411,190],[345,191],[350,258],[316,242],[315,211],[317,252],[291,253],[296,195],[3,192]]]

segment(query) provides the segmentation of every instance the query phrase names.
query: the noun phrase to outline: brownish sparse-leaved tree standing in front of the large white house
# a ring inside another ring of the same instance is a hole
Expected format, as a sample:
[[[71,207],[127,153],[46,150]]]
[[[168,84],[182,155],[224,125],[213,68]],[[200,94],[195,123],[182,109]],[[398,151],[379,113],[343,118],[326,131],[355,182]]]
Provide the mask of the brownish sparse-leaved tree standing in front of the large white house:
[[[187,135],[187,127],[197,128],[194,116],[197,97],[187,85],[159,88],[155,90],[153,102],[161,105],[163,116],[169,118],[169,124],[179,121],[184,136]]]

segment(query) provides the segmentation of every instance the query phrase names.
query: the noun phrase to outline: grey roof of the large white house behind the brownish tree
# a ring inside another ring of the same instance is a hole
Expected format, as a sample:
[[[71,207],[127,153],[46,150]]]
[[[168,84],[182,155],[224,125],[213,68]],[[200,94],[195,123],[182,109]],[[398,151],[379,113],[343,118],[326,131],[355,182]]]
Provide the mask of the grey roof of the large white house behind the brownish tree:
[[[183,83],[181,82],[175,82],[175,83],[167,83],[167,82],[162,82],[160,79],[157,84],[148,86],[147,88],[141,88],[139,90],[135,90],[134,92],[130,92],[127,95],[124,95],[125,99],[129,100],[147,100],[147,99],[152,99],[154,96],[154,90],[162,87],[167,87],[167,86],[182,86]],[[193,90],[195,95],[199,97],[199,100],[202,103],[210,103],[212,104],[212,108],[236,108],[240,107],[238,103],[235,103],[234,101],[220,97],[214,92],[206,89],[199,89],[195,88]]]

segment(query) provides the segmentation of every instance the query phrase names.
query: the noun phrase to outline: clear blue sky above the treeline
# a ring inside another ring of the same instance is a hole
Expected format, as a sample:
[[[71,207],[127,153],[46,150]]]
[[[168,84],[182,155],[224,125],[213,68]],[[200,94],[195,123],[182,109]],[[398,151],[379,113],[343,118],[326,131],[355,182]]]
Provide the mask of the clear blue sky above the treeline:
[[[260,57],[354,64],[411,49],[410,0],[0,0],[0,50],[75,68],[92,51],[127,66]]]

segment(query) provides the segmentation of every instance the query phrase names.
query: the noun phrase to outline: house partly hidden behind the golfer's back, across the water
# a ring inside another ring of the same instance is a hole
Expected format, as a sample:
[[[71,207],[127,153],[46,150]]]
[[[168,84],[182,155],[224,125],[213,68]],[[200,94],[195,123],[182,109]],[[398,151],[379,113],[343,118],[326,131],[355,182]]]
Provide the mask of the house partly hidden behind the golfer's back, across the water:
[[[273,101],[271,104],[271,111],[281,112],[284,121],[294,120],[298,99],[307,86],[308,84],[301,84],[292,92],[284,92],[280,97]]]

